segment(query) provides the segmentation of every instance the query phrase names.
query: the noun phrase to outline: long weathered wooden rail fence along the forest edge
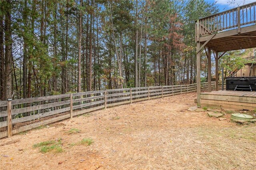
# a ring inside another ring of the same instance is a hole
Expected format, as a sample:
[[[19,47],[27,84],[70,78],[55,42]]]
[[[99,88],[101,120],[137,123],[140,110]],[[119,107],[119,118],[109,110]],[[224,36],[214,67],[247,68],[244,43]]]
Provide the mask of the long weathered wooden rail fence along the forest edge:
[[[208,83],[201,83],[207,89]],[[212,82],[212,89],[215,82]],[[86,91],[0,101],[0,138],[98,109],[196,91],[196,83]]]

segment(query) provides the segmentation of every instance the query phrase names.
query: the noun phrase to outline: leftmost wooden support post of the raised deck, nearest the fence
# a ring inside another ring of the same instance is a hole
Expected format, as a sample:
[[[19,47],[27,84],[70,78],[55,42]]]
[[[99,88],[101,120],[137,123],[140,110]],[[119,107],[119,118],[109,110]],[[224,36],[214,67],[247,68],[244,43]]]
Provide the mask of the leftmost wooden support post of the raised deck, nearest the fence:
[[[200,49],[200,42],[196,43],[196,49]],[[197,106],[201,106],[200,93],[201,93],[201,53],[198,51],[196,54],[196,89],[197,89]]]

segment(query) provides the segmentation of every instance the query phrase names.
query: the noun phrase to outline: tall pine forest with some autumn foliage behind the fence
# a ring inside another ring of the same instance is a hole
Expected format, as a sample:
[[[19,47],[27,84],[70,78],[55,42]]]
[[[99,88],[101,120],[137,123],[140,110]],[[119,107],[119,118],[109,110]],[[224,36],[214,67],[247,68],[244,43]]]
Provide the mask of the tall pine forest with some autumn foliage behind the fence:
[[[0,0],[0,100],[194,83],[194,20],[216,12],[203,0]]]

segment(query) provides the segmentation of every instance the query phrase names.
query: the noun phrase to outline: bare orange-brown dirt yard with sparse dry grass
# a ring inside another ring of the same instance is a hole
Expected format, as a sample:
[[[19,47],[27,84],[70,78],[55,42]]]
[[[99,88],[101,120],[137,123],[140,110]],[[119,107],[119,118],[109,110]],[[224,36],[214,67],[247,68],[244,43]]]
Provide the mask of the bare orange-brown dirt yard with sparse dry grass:
[[[189,93],[112,107],[1,139],[0,169],[255,169],[256,124],[187,111],[194,99]],[[33,148],[56,138],[61,153]],[[94,142],[70,146],[83,138]]]

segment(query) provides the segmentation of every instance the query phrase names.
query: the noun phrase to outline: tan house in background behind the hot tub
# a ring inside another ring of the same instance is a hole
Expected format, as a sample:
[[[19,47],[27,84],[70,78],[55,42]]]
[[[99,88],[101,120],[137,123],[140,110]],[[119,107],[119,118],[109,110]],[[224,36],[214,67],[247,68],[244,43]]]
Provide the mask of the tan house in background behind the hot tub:
[[[245,49],[242,58],[247,59],[248,63],[246,63],[242,69],[236,71],[234,77],[256,76],[256,64],[251,62],[252,59],[256,59],[256,48]]]

